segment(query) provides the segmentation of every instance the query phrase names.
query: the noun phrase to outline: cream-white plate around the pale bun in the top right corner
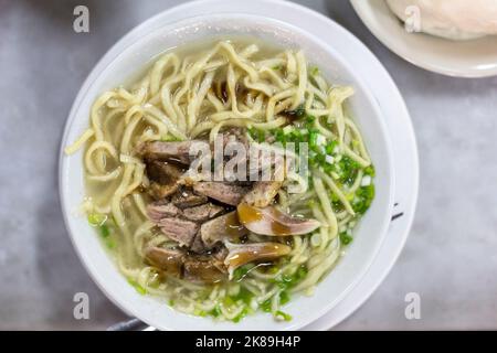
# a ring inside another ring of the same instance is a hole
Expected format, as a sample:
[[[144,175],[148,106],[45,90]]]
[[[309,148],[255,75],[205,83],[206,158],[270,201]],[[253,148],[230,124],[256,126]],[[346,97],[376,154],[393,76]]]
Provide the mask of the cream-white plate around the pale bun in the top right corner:
[[[378,40],[414,65],[448,76],[497,75],[497,35],[451,41],[424,33],[409,33],[384,0],[352,0],[351,3]]]

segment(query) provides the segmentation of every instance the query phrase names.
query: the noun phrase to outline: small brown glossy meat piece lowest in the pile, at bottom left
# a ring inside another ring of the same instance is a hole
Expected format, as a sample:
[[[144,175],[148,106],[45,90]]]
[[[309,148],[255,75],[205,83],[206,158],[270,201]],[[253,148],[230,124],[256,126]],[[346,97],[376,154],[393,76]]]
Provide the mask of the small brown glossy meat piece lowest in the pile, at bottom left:
[[[184,279],[200,282],[219,282],[226,278],[226,266],[213,257],[189,257],[184,261]]]

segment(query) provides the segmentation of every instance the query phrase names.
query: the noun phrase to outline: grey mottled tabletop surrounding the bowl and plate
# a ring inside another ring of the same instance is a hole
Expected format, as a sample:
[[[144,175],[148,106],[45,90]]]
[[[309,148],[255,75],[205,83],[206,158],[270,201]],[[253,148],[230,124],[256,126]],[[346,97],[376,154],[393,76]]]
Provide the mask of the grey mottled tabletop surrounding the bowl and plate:
[[[126,319],[71,246],[57,196],[62,129],[107,49],[171,0],[0,0],[0,330],[105,329]],[[420,148],[414,225],[395,267],[339,330],[497,329],[497,77],[451,78],[385,49],[348,1],[298,1],[341,23],[380,58],[403,94]],[[91,33],[72,29],[86,4]],[[9,169],[14,167],[15,170]],[[89,296],[75,320],[73,296]],[[421,297],[406,320],[405,295]]]

